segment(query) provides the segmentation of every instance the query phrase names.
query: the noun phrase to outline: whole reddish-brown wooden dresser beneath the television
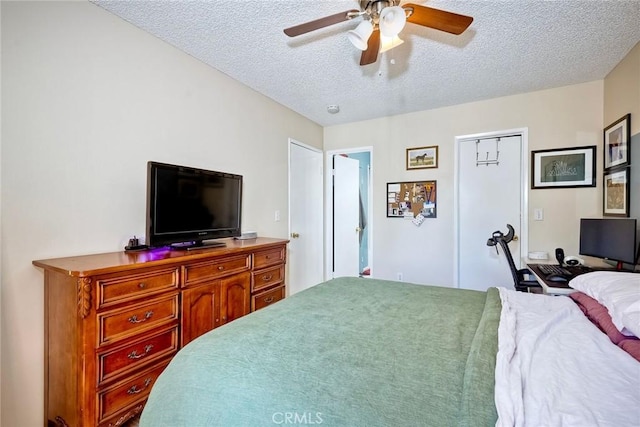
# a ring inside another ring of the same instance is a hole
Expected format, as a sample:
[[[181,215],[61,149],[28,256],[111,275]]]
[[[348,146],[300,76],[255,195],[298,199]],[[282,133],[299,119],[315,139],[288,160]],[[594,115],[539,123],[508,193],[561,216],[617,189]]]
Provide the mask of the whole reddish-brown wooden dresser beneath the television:
[[[287,240],[33,261],[45,282],[45,425],[118,426],[176,352],[285,297]]]

